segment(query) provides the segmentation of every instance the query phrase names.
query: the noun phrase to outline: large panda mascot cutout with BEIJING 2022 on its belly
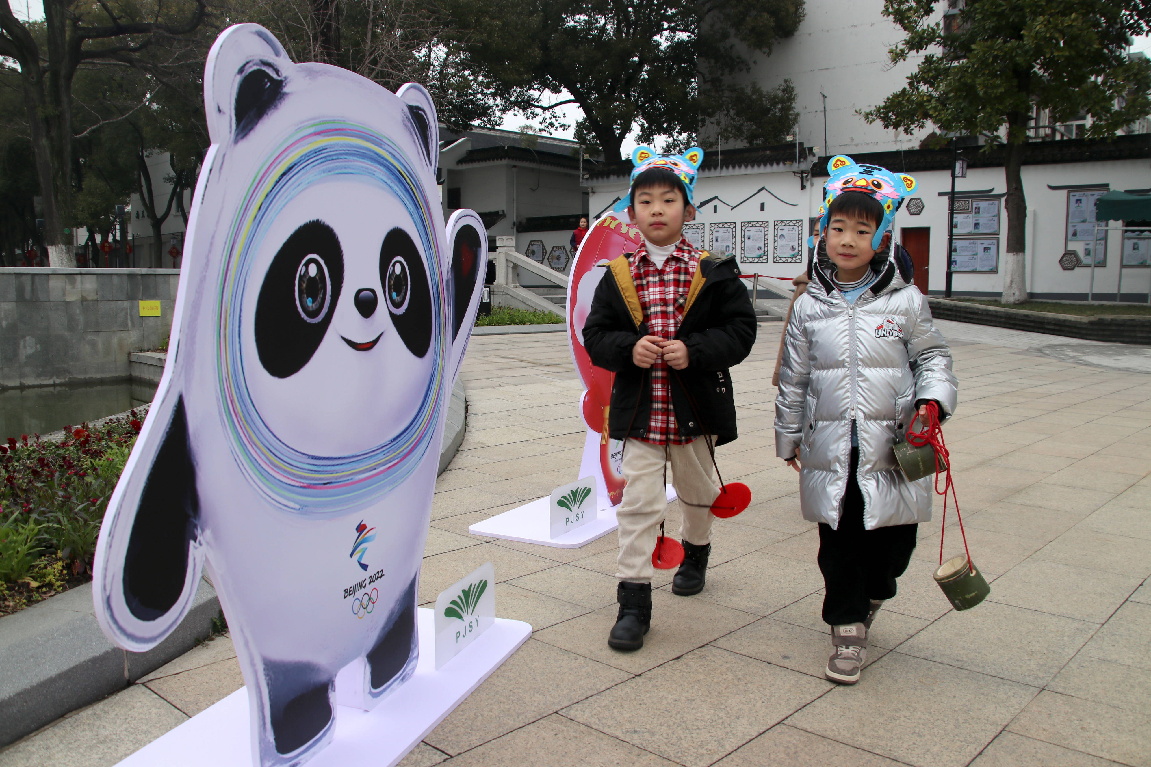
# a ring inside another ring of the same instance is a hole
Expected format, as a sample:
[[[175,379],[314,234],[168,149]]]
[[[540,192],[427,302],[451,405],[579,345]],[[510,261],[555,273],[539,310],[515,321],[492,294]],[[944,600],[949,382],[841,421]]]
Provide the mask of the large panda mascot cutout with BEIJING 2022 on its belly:
[[[254,762],[296,765],[331,738],[341,669],[363,708],[416,669],[420,560],[487,235],[471,210],[444,227],[419,85],[292,63],[241,24],[208,54],[204,100],[212,146],[168,365],[100,530],[93,600],[105,634],[143,652],[207,567]]]

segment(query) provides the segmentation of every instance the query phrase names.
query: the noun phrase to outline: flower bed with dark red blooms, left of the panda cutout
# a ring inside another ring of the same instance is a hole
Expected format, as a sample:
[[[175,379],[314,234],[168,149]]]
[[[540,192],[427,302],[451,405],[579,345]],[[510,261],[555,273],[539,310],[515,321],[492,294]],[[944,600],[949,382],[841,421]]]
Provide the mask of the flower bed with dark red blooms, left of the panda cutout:
[[[0,615],[92,580],[108,498],[146,408],[0,445]]]

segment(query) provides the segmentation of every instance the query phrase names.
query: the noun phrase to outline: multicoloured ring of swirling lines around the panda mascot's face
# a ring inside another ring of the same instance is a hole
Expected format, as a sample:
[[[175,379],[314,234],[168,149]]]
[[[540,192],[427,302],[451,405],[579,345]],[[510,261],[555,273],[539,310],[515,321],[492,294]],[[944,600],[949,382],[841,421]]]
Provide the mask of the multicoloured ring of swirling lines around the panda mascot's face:
[[[282,442],[260,416],[247,390],[241,322],[244,287],[268,228],[298,193],[331,176],[355,176],[392,193],[419,232],[430,282],[434,375],[414,415],[383,444],[348,455],[313,455]],[[439,205],[439,202],[435,202]],[[325,121],[304,125],[266,155],[253,174],[223,241],[220,271],[218,378],[221,415],[241,470],[274,505],[308,516],[335,516],[363,508],[392,490],[420,465],[432,446],[447,392],[447,279],[437,254],[433,201],[404,151],[372,129]]]

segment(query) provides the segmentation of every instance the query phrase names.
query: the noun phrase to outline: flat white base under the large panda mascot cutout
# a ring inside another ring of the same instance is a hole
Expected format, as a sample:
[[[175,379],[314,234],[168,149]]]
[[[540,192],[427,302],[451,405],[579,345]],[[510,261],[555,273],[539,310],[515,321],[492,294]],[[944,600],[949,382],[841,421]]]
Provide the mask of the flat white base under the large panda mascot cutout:
[[[433,611],[419,609],[420,660],[412,678],[372,711],[336,706],[336,731],[307,767],[391,767],[532,636],[497,618],[439,672]],[[124,767],[252,767],[247,688],[241,688],[120,762]]]

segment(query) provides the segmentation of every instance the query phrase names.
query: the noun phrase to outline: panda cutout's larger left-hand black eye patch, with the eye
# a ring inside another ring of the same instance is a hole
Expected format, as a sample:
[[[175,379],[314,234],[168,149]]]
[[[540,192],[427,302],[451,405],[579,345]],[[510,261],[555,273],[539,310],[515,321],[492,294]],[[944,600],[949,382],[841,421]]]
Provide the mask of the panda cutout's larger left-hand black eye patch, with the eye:
[[[331,227],[310,221],[284,240],[256,302],[256,350],[269,375],[287,378],[307,365],[343,284],[344,254]]]

